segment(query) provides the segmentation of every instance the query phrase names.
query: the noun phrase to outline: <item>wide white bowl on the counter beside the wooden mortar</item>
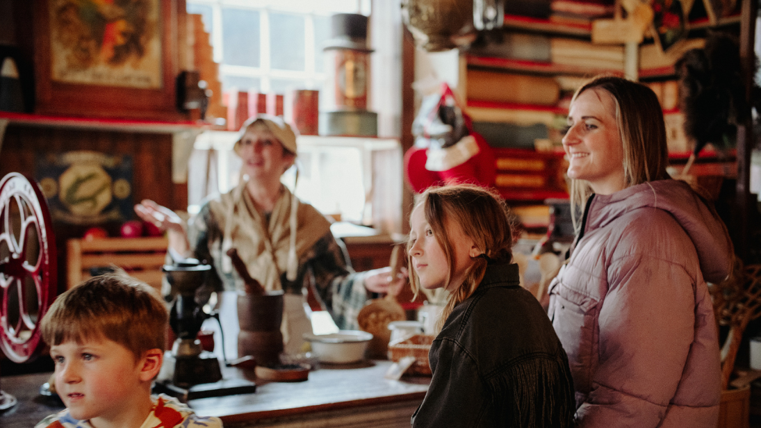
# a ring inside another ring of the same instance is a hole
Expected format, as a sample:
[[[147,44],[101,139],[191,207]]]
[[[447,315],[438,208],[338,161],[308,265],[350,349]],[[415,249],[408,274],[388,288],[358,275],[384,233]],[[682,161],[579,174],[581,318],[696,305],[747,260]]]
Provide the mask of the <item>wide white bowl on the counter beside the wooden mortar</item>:
[[[373,335],[367,331],[341,330],[332,334],[304,333],[320,363],[346,364],[365,360],[365,350]]]

